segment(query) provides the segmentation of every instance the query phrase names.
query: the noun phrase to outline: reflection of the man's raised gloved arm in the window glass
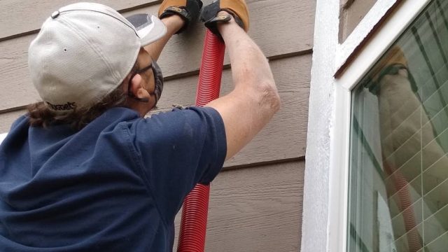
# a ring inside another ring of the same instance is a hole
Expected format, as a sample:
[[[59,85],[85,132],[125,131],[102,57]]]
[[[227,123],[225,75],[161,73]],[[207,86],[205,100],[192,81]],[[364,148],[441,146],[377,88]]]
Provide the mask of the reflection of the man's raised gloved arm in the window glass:
[[[448,158],[440,145],[440,133],[433,127],[437,116],[431,118],[427,113],[429,99],[420,98],[418,88],[423,85],[415,82],[399,45],[381,57],[371,75],[367,87],[378,99],[381,159],[393,234],[405,237],[402,242],[407,241],[407,251],[421,251],[423,233],[416,228],[421,223],[421,208],[426,216],[435,214],[438,209],[431,206],[428,195],[448,179]],[[443,99],[439,101],[444,108]],[[416,203],[421,197],[421,203]],[[440,223],[445,216],[435,217],[439,220],[432,228],[443,230]]]

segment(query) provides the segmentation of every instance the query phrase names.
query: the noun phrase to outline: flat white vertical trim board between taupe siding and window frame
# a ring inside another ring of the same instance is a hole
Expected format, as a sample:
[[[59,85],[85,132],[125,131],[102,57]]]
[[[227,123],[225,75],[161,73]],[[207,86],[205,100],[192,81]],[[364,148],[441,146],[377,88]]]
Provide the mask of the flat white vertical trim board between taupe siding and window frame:
[[[327,251],[330,125],[339,0],[317,0],[305,154],[301,251]]]

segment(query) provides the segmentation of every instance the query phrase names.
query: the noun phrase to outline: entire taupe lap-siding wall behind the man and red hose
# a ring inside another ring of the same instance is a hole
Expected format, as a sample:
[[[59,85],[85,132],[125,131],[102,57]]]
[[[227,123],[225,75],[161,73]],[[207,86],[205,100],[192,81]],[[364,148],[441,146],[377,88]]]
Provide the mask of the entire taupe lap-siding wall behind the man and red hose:
[[[27,69],[27,48],[41,23],[69,0],[2,0],[0,13],[0,133],[39,100]],[[102,0],[124,15],[157,13],[161,1]],[[208,3],[209,1],[204,1]],[[225,163],[211,186],[207,251],[297,251],[300,248],[313,0],[247,0],[251,31],[270,60],[283,106],[267,127]],[[174,36],[160,57],[166,77],[158,106],[195,102],[204,27]],[[228,57],[225,64],[229,64]],[[222,94],[231,90],[229,67]],[[155,111],[157,112],[157,111]]]

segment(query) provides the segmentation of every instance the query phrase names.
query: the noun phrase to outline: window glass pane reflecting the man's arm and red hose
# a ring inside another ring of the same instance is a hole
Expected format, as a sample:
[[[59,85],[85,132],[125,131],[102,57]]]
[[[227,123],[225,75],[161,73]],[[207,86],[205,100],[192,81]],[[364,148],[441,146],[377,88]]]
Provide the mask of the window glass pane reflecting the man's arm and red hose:
[[[348,251],[448,251],[448,1],[352,92]]]

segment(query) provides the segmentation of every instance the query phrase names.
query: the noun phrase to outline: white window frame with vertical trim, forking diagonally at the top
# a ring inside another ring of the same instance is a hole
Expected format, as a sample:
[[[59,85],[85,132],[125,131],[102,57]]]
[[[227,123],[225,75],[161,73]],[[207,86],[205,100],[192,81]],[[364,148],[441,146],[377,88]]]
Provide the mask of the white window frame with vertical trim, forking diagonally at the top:
[[[339,18],[334,13],[339,11],[339,0],[317,1],[301,251],[346,252],[351,90],[429,2],[378,0],[344,43],[339,44]],[[394,11],[388,13],[393,7]],[[379,22],[381,27],[372,34]],[[358,48],[362,43],[362,48]],[[346,64],[355,52],[356,57]],[[328,67],[329,64],[334,67]],[[328,104],[327,97],[322,99],[323,94],[330,97]],[[331,118],[322,111],[331,111]],[[329,123],[322,127],[325,121]],[[319,177],[322,181],[316,179]]]

